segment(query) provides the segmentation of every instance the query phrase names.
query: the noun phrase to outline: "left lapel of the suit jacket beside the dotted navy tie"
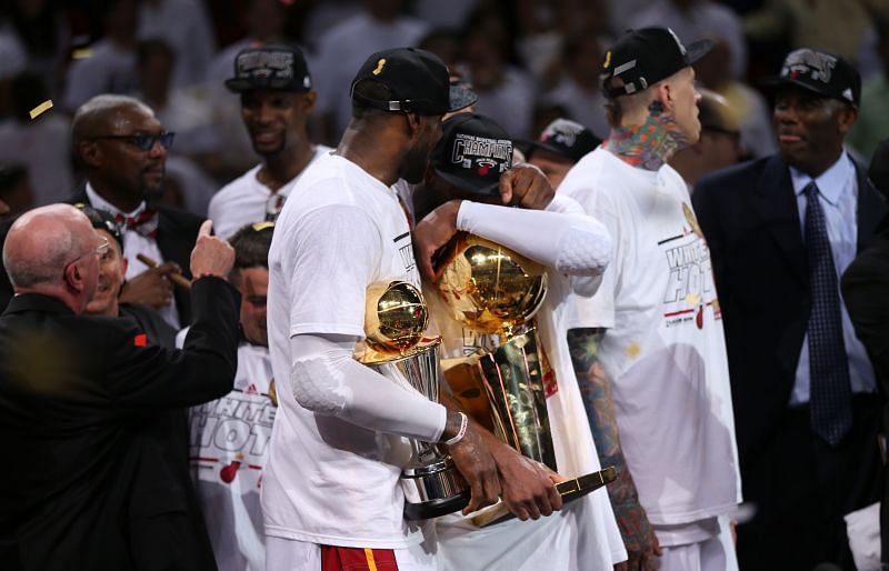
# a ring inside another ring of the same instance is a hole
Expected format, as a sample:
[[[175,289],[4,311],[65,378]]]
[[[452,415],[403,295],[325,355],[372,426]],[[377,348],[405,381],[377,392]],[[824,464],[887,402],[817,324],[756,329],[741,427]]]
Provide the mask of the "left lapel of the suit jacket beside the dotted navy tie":
[[[801,283],[808,284],[808,261],[802,243],[797,197],[793,194],[790,171],[779,154],[768,160],[755,188],[753,206],[762,226],[787,259],[790,272]]]

